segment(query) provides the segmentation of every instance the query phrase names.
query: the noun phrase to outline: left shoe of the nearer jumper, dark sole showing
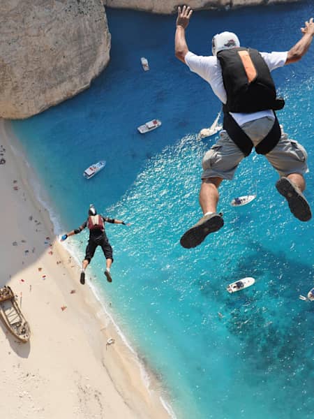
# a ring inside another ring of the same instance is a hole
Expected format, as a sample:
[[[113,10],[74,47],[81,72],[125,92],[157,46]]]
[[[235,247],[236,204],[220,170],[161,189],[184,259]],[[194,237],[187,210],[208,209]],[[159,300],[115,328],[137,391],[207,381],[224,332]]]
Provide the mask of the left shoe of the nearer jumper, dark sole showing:
[[[214,212],[213,214],[202,216],[202,218],[181,237],[181,246],[186,249],[196,247],[202,243],[209,233],[220,230],[220,228],[223,227],[222,215],[223,214],[221,213],[218,214],[217,212]]]

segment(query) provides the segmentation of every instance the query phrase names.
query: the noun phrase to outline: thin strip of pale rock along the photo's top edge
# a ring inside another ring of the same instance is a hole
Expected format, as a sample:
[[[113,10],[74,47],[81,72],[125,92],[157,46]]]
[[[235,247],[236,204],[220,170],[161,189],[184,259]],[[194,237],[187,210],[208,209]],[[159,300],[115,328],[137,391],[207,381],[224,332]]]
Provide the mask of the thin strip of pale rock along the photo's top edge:
[[[177,12],[178,6],[188,4],[194,10],[237,8],[240,6],[257,6],[274,3],[297,2],[301,0],[103,0],[105,6],[113,8],[130,8],[146,10],[151,13],[170,14]]]

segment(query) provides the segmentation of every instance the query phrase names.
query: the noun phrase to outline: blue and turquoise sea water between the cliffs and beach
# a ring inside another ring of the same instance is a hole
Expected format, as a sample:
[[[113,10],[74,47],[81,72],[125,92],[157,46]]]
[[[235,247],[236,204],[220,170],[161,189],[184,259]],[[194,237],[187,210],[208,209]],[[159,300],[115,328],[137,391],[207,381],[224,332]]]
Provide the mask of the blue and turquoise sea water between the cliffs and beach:
[[[211,37],[230,30],[244,46],[289,50],[313,14],[313,1],[195,12],[188,45],[209,54]],[[175,59],[175,16],[107,9],[107,19],[111,60],[91,87],[13,122],[61,223],[57,233],[80,226],[89,203],[131,223],[107,225],[112,284],[100,250],[87,284],[112,303],[115,320],[162,381],[177,418],[313,419],[314,303],[299,294],[314,285],[314,221],[293,218],[276,191],[278,175],[253,152],[234,181],[220,186],[223,229],[200,247],[183,249],[179,238],[201,216],[201,159],[215,140],[197,140],[197,133],[211,125],[220,103]],[[314,45],[273,76],[286,99],[278,118],[308,151],[306,196],[314,207],[313,55]],[[142,70],[140,57],[150,71]],[[160,128],[137,132],[153,118]],[[101,159],[106,168],[84,179],[83,170]],[[255,185],[251,204],[230,206]],[[80,260],[86,240],[87,232],[68,240]],[[254,277],[255,285],[227,293],[227,284],[242,277]]]

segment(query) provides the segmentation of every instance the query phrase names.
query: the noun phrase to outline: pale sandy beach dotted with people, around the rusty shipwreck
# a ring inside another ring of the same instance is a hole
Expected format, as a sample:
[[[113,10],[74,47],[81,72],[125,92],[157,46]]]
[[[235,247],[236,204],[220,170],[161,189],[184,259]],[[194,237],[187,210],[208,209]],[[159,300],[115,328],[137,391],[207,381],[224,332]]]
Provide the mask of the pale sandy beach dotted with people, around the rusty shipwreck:
[[[0,145],[0,286],[13,289],[31,328],[24,344],[0,322],[1,418],[170,418],[160,384],[150,374],[147,388],[137,355],[80,285],[9,122],[0,121]]]

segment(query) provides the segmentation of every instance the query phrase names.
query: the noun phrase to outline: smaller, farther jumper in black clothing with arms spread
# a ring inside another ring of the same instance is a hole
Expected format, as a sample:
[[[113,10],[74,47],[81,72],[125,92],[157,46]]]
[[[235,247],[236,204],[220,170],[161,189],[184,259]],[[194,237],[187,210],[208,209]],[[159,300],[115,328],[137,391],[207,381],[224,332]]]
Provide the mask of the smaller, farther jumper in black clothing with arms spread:
[[[108,282],[112,281],[110,267],[114,259],[112,257],[112,247],[110,246],[110,242],[108,241],[107,235],[105,233],[105,223],[123,224],[124,226],[130,225],[124,223],[124,221],[110,219],[108,217],[102,216],[101,214],[97,214],[94,205],[90,205],[89,216],[87,221],[84,221],[84,223],[82,223],[82,226],[80,226],[79,228],[76,228],[75,230],[72,230],[61,237],[61,242],[63,242],[71,235],[81,233],[81,231],[84,230],[85,227],[89,228],[89,242],[87,244],[85,257],[82,262],[82,272],[80,275],[81,284],[85,284],[85,270],[91,262],[91,259],[93,258],[98,246],[100,246],[101,249],[103,249],[103,254],[106,258],[105,276]]]

